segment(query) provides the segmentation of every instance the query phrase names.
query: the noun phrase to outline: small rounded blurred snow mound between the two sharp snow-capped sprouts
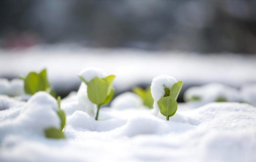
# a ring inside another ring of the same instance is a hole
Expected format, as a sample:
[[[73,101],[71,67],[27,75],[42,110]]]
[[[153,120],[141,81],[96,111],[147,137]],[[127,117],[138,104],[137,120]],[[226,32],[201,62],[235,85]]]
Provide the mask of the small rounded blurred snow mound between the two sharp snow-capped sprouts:
[[[129,108],[142,108],[143,101],[140,96],[133,92],[124,92],[111,102],[110,106],[117,110],[124,110]]]

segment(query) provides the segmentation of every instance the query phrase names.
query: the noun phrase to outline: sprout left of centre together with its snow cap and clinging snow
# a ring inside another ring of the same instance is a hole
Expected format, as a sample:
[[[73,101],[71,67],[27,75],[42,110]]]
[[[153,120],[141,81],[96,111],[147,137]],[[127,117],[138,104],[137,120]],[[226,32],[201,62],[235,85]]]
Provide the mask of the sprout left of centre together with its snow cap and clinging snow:
[[[97,106],[95,119],[98,120],[100,106],[110,102],[114,96],[112,84],[115,76],[107,76],[99,68],[86,68],[78,76],[82,81],[78,90],[78,102],[86,107],[86,112],[91,116],[94,116],[94,109]]]

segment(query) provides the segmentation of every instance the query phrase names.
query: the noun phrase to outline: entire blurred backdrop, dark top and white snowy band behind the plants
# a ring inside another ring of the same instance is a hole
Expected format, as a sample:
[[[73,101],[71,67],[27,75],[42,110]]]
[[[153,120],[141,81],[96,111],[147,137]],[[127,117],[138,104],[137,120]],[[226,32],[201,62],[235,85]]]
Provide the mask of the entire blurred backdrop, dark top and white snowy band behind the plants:
[[[0,77],[47,68],[62,97],[89,66],[119,75],[117,94],[158,74],[256,82],[254,0],[1,0],[0,22]]]

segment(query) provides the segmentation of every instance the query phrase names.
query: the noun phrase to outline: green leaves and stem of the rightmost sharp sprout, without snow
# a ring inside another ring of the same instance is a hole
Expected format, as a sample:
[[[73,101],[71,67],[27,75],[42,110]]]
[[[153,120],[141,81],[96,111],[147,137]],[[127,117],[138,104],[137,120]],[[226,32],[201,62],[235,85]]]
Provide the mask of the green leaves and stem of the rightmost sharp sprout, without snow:
[[[165,87],[164,97],[160,98],[157,101],[160,112],[161,114],[166,116],[166,120],[169,120],[171,116],[174,116],[177,111],[178,103],[176,100],[178,98],[178,95],[180,94],[182,84],[183,81],[178,81],[173,84],[171,89]]]

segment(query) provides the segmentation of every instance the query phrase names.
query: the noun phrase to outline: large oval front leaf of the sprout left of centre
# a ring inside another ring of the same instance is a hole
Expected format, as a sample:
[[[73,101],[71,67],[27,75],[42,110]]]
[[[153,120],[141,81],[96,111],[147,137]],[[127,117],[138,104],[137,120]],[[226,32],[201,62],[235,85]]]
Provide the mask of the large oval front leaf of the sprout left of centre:
[[[97,76],[93,78],[87,86],[88,98],[94,104],[100,105],[107,98],[108,82]]]

